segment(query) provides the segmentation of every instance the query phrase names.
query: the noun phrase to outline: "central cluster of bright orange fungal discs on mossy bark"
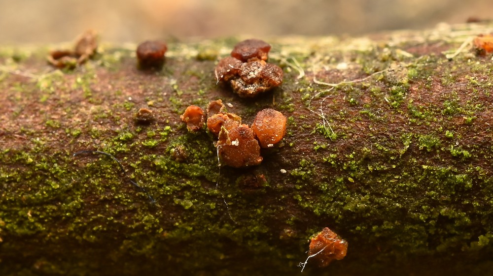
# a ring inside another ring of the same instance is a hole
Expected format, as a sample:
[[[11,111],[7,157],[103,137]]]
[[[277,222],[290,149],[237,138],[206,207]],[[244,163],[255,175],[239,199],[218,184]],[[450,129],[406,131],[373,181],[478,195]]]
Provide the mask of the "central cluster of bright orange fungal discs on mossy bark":
[[[224,109],[222,101],[216,100],[210,102],[207,112],[207,128],[218,139],[215,146],[221,165],[235,168],[258,165],[263,159],[260,155],[260,147],[273,147],[285,134],[287,120],[279,111],[273,109],[260,111],[250,128],[242,123],[240,116],[224,112]],[[202,109],[192,105],[181,115],[181,119],[187,123],[190,131],[196,131],[201,128],[197,125],[198,122],[203,122],[202,116]]]

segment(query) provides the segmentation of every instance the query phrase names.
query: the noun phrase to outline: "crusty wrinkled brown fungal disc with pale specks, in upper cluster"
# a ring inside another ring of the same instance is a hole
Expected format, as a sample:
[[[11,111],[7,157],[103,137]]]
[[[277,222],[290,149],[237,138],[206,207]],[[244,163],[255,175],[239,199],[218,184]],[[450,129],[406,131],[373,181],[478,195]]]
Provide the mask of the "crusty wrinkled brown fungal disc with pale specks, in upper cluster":
[[[249,61],[240,67],[240,78],[230,81],[240,97],[254,97],[282,84],[281,67],[265,61]]]

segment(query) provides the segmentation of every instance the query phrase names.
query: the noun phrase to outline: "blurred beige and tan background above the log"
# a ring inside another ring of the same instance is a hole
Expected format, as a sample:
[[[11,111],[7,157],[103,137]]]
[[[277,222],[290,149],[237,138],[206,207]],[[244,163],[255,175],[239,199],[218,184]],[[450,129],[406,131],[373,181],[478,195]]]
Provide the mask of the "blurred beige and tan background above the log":
[[[0,43],[357,35],[491,19],[493,0],[0,0]]]

